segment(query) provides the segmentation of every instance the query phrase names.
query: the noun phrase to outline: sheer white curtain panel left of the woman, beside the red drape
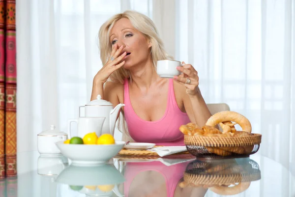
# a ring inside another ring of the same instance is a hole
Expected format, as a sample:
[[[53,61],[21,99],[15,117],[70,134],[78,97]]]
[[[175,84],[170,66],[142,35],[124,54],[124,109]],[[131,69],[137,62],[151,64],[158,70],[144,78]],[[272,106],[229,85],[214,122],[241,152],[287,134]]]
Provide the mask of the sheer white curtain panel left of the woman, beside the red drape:
[[[37,134],[51,124],[66,131],[67,120],[89,101],[102,67],[97,33],[103,22],[126,9],[152,17],[152,1],[21,0],[17,6],[18,151],[27,151],[36,150]]]

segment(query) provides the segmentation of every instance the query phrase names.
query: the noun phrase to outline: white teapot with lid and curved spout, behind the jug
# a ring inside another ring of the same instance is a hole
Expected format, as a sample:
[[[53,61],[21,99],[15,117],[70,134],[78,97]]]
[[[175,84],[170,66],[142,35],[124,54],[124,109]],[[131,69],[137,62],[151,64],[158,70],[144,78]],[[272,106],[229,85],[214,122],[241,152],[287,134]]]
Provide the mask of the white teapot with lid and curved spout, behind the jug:
[[[111,134],[114,136],[118,113],[120,113],[123,106],[125,105],[120,103],[113,109],[113,104],[101,99],[101,96],[98,94],[97,100],[90,101],[85,106],[79,107],[79,117],[81,117],[81,108],[85,108],[85,117],[105,117],[101,134]]]

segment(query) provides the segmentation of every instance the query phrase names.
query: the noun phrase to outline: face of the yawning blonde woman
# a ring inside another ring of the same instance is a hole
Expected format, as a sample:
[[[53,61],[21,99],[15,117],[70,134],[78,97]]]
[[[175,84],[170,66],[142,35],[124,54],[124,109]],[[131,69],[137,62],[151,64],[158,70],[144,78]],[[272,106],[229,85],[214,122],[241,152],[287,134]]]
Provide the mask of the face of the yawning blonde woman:
[[[136,30],[129,19],[118,20],[110,32],[110,42],[118,48],[123,45],[122,53],[127,52],[124,58],[124,68],[129,69],[133,65],[145,63],[149,58],[151,44],[140,31]],[[121,54],[122,54],[121,53]]]

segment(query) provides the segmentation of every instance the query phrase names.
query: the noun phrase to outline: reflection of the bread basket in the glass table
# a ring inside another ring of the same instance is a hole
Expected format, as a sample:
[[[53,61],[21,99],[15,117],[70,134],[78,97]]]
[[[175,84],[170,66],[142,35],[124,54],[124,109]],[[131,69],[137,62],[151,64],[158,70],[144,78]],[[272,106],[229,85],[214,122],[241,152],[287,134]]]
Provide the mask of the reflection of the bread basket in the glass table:
[[[182,187],[210,188],[221,195],[238,194],[250,186],[251,181],[259,180],[259,165],[249,158],[190,162],[184,172]],[[234,187],[228,187],[239,183]]]

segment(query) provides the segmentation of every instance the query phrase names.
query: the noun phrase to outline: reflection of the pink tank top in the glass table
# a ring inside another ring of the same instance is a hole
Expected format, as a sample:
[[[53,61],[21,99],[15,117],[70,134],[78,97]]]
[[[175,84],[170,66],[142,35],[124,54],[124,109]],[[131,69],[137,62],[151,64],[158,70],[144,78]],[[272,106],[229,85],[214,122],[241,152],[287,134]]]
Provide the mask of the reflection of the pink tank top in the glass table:
[[[183,177],[186,166],[189,162],[166,166],[159,161],[144,163],[127,163],[125,167],[124,196],[129,196],[129,188],[137,174],[143,171],[157,171],[163,175],[166,182],[167,197],[173,197],[178,181]]]

